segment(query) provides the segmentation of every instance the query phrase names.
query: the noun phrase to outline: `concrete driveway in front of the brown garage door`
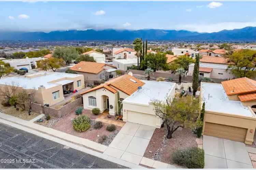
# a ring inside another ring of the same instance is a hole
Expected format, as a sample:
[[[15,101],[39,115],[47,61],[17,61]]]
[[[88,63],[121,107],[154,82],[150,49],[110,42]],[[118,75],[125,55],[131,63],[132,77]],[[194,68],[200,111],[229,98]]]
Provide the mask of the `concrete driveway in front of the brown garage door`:
[[[203,136],[204,168],[253,168],[242,142]]]

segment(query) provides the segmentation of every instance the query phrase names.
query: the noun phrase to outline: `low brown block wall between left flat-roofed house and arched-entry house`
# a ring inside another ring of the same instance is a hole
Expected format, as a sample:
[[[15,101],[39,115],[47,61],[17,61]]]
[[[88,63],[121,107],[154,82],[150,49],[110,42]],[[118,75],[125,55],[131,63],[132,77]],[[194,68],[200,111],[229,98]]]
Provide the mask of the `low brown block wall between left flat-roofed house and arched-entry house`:
[[[66,115],[67,113],[70,113],[73,111],[76,107],[80,106],[83,102],[83,98],[76,99],[64,106],[62,106],[59,109],[53,108],[53,107],[47,107],[49,115],[55,116],[55,117],[61,117],[62,115]],[[32,105],[32,111],[43,113],[42,112],[42,106],[41,104],[33,103]]]

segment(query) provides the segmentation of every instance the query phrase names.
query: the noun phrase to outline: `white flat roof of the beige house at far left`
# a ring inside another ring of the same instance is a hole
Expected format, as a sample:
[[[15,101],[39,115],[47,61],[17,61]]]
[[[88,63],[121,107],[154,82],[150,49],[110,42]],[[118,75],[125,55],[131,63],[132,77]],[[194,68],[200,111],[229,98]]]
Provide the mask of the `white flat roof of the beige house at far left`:
[[[58,86],[57,83],[48,83],[54,80],[62,79],[62,78],[75,78],[79,77],[82,74],[70,74],[70,73],[60,73],[60,72],[50,72],[50,71],[40,71],[35,74],[30,74],[29,76],[38,75],[39,77],[29,78],[29,77],[10,77],[5,79],[0,79],[0,84],[12,85],[15,83],[18,84],[19,87],[23,87],[26,89],[38,89],[39,86],[43,85],[46,89]],[[60,81],[61,82],[61,81]]]

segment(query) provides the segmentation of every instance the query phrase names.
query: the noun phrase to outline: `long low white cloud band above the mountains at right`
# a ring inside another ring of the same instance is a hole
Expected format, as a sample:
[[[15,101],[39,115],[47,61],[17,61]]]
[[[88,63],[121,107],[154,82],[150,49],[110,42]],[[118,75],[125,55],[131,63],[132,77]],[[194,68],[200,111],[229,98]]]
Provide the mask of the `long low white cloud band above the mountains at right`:
[[[190,30],[197,32],[218,32],[222,30],[241,29],[244,27],[256,27],[256,22],[219,22],[213,24],[179,24],[177,30]]]

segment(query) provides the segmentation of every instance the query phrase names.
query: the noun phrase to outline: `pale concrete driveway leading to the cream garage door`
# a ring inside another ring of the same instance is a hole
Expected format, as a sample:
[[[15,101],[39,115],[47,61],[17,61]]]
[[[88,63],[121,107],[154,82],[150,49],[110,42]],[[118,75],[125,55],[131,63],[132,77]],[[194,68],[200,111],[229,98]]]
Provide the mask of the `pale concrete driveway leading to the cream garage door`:
[[[104,154],[139,165],[154,131],[152,126],[126,122]]]

